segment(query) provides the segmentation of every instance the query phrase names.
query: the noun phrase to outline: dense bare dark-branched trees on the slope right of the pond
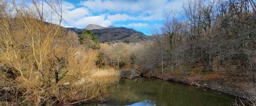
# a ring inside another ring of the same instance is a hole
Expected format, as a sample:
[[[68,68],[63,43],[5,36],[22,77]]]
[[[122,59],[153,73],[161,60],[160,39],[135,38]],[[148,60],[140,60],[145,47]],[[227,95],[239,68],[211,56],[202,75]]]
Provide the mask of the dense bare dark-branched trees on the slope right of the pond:
[[[200,63],[207,71],[216,58],[230,74],[255,81],[255,6],[254,0],[192,0],[182,13],[166,10],[164,24],[151,28],[160,67]]]

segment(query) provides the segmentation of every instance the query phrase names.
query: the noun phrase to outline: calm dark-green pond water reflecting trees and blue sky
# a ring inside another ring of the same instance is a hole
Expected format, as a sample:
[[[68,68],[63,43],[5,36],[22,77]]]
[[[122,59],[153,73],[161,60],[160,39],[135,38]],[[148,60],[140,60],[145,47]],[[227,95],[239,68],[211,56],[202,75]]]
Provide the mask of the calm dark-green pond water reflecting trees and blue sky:
[[[230,106],[234,97],[160,79],[120,79],[109,87],[114,106]]]

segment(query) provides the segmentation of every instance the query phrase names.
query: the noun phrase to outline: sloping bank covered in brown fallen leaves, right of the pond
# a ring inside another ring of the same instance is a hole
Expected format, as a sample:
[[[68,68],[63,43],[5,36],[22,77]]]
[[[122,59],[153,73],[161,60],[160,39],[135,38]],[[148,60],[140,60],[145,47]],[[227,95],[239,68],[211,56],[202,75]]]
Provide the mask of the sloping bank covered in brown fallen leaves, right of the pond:
[[[125,67],[122,69],[122,73],[129,73],[128,70],[134,67]],[[139,67],[136,68],[139,69]],[[198,64],[195,67],[189,67],[187,74],[184,74],[184,71],[181,72],[180,70],[182,69],[184,70],[184,67],[178,67],[174,72],[167,70],[164,74],[161,71],[150,73],[139,70],[143,77],[154,77],[165,81],[174,81],[186,85],[212,89],[236,96],[238,100],[241,98],[242,100],[249,99],[255,102],[254,89],[256,88],[256,84],[245,81],[243,77],[230,75],[224,67],[215,65],[213,71],[203,71],[202,66]]]

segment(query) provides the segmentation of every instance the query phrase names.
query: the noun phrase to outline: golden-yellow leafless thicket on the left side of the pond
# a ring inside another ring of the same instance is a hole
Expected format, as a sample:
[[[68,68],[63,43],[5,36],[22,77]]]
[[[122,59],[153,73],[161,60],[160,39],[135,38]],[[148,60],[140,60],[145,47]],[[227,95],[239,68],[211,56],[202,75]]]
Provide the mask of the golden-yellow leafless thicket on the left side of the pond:
[[[32,2],[28,8],[15,0],[0,1],[0,105],[101,100],[102,87],[87,86],[84,78],[96,69],[98,52],[86,45],[96,43],[89,38],[93,35],[82,39],[86,44],[79,44],[76,33],[60,26],[61,15],[56,17],[58,24],[46,23],[52,17],[42,15],[47,12],[38,9],[42,2]],[[61,2],[50,3],[61,14]]]

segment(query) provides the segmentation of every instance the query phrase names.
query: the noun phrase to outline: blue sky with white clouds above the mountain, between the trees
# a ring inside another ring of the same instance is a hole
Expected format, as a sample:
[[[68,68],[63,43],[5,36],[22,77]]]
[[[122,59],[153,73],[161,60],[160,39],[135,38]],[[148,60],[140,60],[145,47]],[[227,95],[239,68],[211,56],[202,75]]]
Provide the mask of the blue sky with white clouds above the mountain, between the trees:
[[[148,25],[162,23],[165,9],[182,10],[185,0],[64,0],[63,17],[71,27],[88,24],[127,27],[151,35]],[[66,23],[62,26],[69,27]]]

